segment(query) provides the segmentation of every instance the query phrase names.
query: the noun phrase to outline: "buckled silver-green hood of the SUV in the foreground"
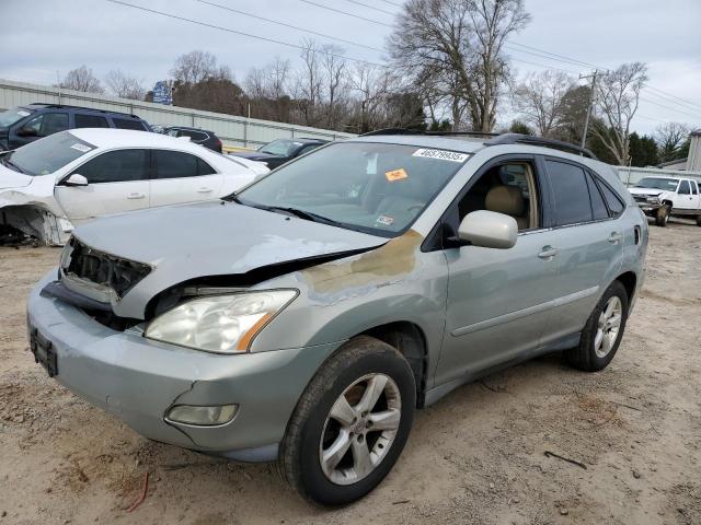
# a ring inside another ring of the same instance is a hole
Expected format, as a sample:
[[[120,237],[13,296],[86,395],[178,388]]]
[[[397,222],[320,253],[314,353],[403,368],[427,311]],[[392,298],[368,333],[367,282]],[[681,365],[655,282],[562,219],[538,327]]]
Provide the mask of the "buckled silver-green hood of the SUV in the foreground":
[[[112,215],[79,226],[88,246],[153,269],[113,310],[143,318],[157,293],[205,276],[242,275],[256,268],[387,243],[387,238],[211,201]]]

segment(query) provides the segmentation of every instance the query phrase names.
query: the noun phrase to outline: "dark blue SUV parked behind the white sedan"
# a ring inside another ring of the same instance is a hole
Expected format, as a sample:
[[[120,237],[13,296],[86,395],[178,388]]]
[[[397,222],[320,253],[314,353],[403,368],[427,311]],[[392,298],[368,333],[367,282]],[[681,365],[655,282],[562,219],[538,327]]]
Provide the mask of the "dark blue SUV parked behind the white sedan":
[[[14,150],[42,137],[76,128],[151,131],[148,122],[136,115],[60,104],[28,104],[0,113],[0,151]]]

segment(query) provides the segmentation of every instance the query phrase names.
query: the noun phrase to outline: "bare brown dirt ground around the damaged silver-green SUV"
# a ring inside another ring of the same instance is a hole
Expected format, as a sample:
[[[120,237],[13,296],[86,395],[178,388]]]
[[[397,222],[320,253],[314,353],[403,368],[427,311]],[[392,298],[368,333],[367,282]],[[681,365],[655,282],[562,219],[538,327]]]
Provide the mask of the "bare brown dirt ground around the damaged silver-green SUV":
[[[607,370],[552,355],[457,389],[417,413],[375,492],[332,511],[269,465],[151,443],[49,380],[27,352],[24,307],[59,250],[0,248],[0,525],[701,524],[701,228],[651,237]]]

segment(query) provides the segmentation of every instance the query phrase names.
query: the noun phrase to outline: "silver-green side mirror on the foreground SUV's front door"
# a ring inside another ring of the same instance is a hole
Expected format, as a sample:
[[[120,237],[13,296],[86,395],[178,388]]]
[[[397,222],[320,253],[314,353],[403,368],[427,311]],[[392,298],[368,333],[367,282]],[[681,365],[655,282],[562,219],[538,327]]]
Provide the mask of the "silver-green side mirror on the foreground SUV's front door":
[[[517,235],[516,219],[486,210],[468,213],[458,229],[460,241],[484,248],[510,248],[516,244]]]

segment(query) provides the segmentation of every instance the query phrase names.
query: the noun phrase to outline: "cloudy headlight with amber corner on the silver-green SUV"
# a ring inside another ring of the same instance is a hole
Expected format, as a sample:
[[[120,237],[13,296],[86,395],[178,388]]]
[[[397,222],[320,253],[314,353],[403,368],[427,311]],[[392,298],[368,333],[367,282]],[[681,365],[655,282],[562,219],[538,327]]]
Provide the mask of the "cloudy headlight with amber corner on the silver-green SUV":
[[[143,336],[207,352],[245,352],[296,296],[296,290],[269,290],[195,299],[153,319]]]

